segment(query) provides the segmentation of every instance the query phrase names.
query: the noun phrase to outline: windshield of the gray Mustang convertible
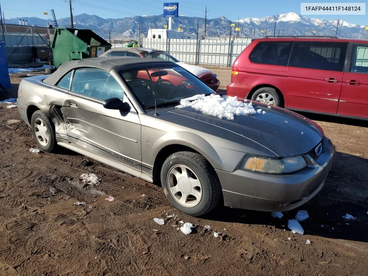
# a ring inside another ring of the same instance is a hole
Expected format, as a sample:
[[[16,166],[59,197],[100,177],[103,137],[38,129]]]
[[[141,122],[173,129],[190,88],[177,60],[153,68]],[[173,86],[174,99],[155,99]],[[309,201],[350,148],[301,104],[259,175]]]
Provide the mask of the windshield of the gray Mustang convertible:
[[[175,105],[175,102],[180,102],[181,99],[215,92],[175,64],[134,68],[121,71],[120,75],[145,109],[155,105],[155,96],[156,104],[160,107],[164,107],[163,103],[170,102],[165,106],[167,107]]]

